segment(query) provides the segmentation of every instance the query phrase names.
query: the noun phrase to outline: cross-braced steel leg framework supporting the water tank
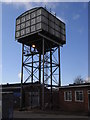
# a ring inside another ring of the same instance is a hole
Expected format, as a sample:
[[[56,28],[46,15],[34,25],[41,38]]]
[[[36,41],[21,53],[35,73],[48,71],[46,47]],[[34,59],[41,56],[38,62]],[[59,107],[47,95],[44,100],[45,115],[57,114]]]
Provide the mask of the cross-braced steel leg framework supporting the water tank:
[[[47,47],[46,47],[47,46]],[[44,109],[44,87],[51,90],[61,86],[60,74],[60,45],[52,48],[48,42],[42,39],[42,51],[38,51],[33,46],[22,44],[22,69],[21,69],[21,102],[20,108],[23,108],[23,83],[34,83],[38,81],[42,87],[42,109]]]

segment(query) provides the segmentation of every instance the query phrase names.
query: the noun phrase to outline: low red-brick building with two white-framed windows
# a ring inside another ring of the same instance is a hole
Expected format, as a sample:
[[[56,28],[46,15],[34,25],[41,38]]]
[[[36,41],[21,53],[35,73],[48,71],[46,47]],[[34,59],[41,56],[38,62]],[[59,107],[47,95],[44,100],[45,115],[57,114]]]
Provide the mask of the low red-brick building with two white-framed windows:
[[[90,111],[90,84],[72,84],[59,88],[60,110],[69,112]]]

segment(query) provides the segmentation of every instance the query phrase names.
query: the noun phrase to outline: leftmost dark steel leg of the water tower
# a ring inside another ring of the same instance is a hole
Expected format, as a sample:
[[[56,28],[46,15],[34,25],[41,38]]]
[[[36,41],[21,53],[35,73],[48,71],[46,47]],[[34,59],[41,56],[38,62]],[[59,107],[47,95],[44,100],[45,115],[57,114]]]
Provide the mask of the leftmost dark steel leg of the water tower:
[[[22,44],[22,68],[21,68],[21,99],[20,99],[20,109],[23,108],[23,52],[24,52],[24,44]]]

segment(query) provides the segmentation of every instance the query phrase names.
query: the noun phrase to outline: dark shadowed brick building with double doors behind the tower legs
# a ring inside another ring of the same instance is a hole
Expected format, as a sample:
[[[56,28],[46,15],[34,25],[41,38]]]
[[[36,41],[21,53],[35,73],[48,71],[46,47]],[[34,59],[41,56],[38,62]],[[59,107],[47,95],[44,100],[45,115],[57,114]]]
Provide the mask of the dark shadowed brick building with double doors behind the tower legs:
[[[12,92],[13,94],[13,107],[14,110],[20,109],[21,99],[21,84],[4,84],[2,85],[2,92]],[[53,108],[57,108],[59,104],[59,92],[56,89],[52,91],[52,104]],[[47,87],[44,88],[44,104],[45,108],[49,109],[51,103],[51,90]],[[41,108],[42,107],[42,84],[23,83],[23,107],[26,109]]]

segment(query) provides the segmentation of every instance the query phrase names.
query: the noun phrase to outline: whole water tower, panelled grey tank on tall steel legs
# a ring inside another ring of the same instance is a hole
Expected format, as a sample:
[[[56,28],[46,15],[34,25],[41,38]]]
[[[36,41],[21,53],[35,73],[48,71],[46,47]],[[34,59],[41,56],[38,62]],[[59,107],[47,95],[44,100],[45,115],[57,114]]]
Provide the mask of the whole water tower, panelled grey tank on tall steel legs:
[[[23,83],[42,84],[42,108],[44,87],[51,90],[61,86],[60,47],[66,43],[65,23],[43,7],[24,12],[16,19],[15,39],[22,44],[21,108],[23,107]],[[23,79],[24,71],[28,75]]]

